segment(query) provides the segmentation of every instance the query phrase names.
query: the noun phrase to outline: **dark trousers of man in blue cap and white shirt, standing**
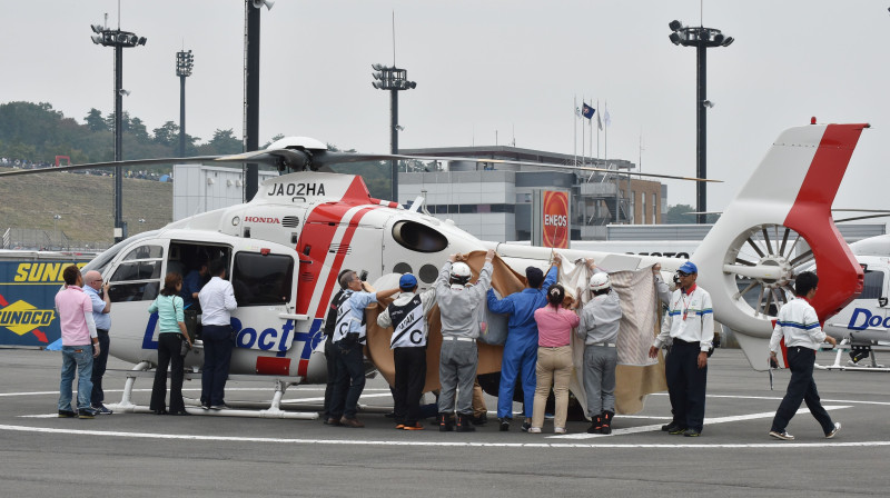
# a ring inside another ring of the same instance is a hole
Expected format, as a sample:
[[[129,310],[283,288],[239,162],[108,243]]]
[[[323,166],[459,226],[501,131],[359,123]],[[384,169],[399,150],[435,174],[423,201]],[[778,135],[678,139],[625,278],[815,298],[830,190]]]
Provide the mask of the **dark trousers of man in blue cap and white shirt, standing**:
[[[699,368],[700,352],[699,342],[674,339],[671,353],[664,360],[674,424],[699,432],[704,426],[704,392],[708,388],[708,367]]]

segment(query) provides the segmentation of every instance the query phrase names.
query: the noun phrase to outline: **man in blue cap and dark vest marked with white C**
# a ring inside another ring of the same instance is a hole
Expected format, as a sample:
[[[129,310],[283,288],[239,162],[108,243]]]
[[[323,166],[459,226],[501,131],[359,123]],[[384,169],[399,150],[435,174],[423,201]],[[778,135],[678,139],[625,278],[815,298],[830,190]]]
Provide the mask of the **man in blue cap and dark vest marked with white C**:
[[[402,293],[377,316],[377,325],[393,327],[389,348],[396,368],[393,389],[396,429],[422,430],[418,419],[426,381],[426,317],[436,303],[436,289],[416,293],[417,278],[411,273],[398,279],[398,288]]]

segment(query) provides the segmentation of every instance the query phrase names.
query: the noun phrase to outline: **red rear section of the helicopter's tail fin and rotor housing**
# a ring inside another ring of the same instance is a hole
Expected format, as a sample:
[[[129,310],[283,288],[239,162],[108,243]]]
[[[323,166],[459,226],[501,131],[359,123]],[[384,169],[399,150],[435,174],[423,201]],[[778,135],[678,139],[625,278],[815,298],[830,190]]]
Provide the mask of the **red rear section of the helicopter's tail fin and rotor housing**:
[[[837,313],[862,291],[862,267],[831,218],[831,203],[867,124],[829,124],[803,179],[785,227],[810,243],[819,269],[812,305],[820,321]]]

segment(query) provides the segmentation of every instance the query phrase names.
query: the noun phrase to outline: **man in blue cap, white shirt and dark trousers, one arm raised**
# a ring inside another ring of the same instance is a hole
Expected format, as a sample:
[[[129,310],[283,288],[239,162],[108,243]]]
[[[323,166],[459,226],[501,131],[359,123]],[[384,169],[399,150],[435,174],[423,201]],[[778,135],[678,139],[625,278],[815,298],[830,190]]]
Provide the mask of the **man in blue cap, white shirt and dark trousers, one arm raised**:
[[[662,345],[673,339],[664,361],[664,375],[674,417],[665,429],[673,435],[698,437],[704,427],[708,351],[714,340],[714,310],[711,295],[695,285],[699,277],[695,263],[684,262],[676,276],[678,289],[671,296],[661,333],[649,348],[649,356],[656,358]],[[666,285],[661,280],[656,283],[661,293],[662,286]]]

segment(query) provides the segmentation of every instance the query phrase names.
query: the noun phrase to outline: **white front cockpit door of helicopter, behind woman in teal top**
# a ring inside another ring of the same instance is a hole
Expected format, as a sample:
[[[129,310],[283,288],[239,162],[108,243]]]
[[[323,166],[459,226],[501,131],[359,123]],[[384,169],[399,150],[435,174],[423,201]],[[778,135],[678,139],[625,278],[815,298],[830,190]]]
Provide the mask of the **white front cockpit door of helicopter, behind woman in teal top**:
[[[105,280],[110,283],[111,352],[138,351],[131,361],[154,360],[157,319],[147,309],[162,285],[168,240],[140,240],[120,251]],[[121,357],[121,355],[116,355]]]

